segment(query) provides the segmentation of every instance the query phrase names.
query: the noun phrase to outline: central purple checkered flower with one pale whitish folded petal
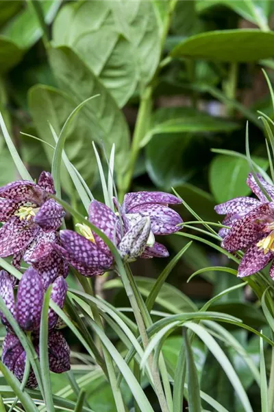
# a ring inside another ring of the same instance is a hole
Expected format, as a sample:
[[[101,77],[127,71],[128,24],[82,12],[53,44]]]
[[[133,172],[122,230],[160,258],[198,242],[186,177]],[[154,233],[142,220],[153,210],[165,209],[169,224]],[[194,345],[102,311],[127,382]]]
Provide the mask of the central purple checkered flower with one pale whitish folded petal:
[[[103,203],[92,201],[88,218],[116,245],[123,260],[169,255],[162,244],[155,242],[154,235],[179,229],[182,218],[168,207],[169,203],[181,203],[179,199],[162,192],[138,192],[127,194],[122,207],[115,199],[114,202],[116,214]],[[55,250],[83,275],[101,275],[110,270],[114,258],[105,242],[84,222],[77,227],[81,234],[60,232],[61,246],[55,244]]]

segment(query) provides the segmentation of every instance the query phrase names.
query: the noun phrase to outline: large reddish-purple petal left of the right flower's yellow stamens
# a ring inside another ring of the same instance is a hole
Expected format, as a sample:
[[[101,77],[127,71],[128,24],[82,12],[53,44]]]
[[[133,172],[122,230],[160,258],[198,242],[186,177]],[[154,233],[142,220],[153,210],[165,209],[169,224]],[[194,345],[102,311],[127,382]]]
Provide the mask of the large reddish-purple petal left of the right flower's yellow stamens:
[[[273,216],[273,208],[269,203],[249,211],[234,223],[222,246],[229,252],[245,249],[260,238],[266,224],[273,221]]]

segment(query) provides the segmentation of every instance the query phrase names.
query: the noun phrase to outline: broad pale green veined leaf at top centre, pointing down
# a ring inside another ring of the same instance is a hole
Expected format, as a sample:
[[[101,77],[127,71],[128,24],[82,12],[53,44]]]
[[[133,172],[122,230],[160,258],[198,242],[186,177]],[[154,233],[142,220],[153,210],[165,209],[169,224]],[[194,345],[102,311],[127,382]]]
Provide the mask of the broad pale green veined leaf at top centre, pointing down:
[[[58,14],[53,41],[77,52],[124,106],[138,82],[149,82],[155,72],[159,31],[151,1],[78,1]]]

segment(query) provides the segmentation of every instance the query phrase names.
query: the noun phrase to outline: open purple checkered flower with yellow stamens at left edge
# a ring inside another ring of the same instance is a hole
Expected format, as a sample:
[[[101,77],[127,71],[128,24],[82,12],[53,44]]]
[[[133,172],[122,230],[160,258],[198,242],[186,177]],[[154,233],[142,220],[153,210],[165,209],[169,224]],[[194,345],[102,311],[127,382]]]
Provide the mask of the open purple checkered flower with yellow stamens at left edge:
[[[21,259],[33,264],[45,279],[45,288],[60,274],[67,274],[67,265],[53,250],[60,242],[56,232],[64,217],[64,209],[50,194],[55,194],[53,179],[42,172],[38,183],[15,181],[0,188],[0,257],[13,255],[12,263],[20,268]]]

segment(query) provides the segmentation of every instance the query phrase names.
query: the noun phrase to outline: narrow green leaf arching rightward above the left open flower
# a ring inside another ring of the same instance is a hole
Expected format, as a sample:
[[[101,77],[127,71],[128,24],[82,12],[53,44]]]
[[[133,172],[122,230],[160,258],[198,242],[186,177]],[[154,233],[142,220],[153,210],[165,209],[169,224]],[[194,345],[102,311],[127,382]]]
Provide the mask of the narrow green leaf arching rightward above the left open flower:
[[[60,170],[61,170],[61,160],[62,160],[62,152],[64,149],[64,143],[66,140],[66,129],[68,128],[69,124],[71,123],[71,120],[75,116],[75,114],[87,103],[90,102],[90,100],[97,98],[98,95],[91,96],[90,98],[84,100],[84,102],[80,103],[74,110],[73,112],[69,115],[69,117],[66,119],[66,122],[64,123],[64,126],[62,127],[62,130],[60,132],[60,135],[58,137],[58,142],[56,144],[54,154],[53,154],[53,159],[52,159],[52,165],[51,165],[51,174],[53,176],[53,181],[55,183],[55,190],[56,194],[60,197],[61,195],[61,176],[60,176]]]

